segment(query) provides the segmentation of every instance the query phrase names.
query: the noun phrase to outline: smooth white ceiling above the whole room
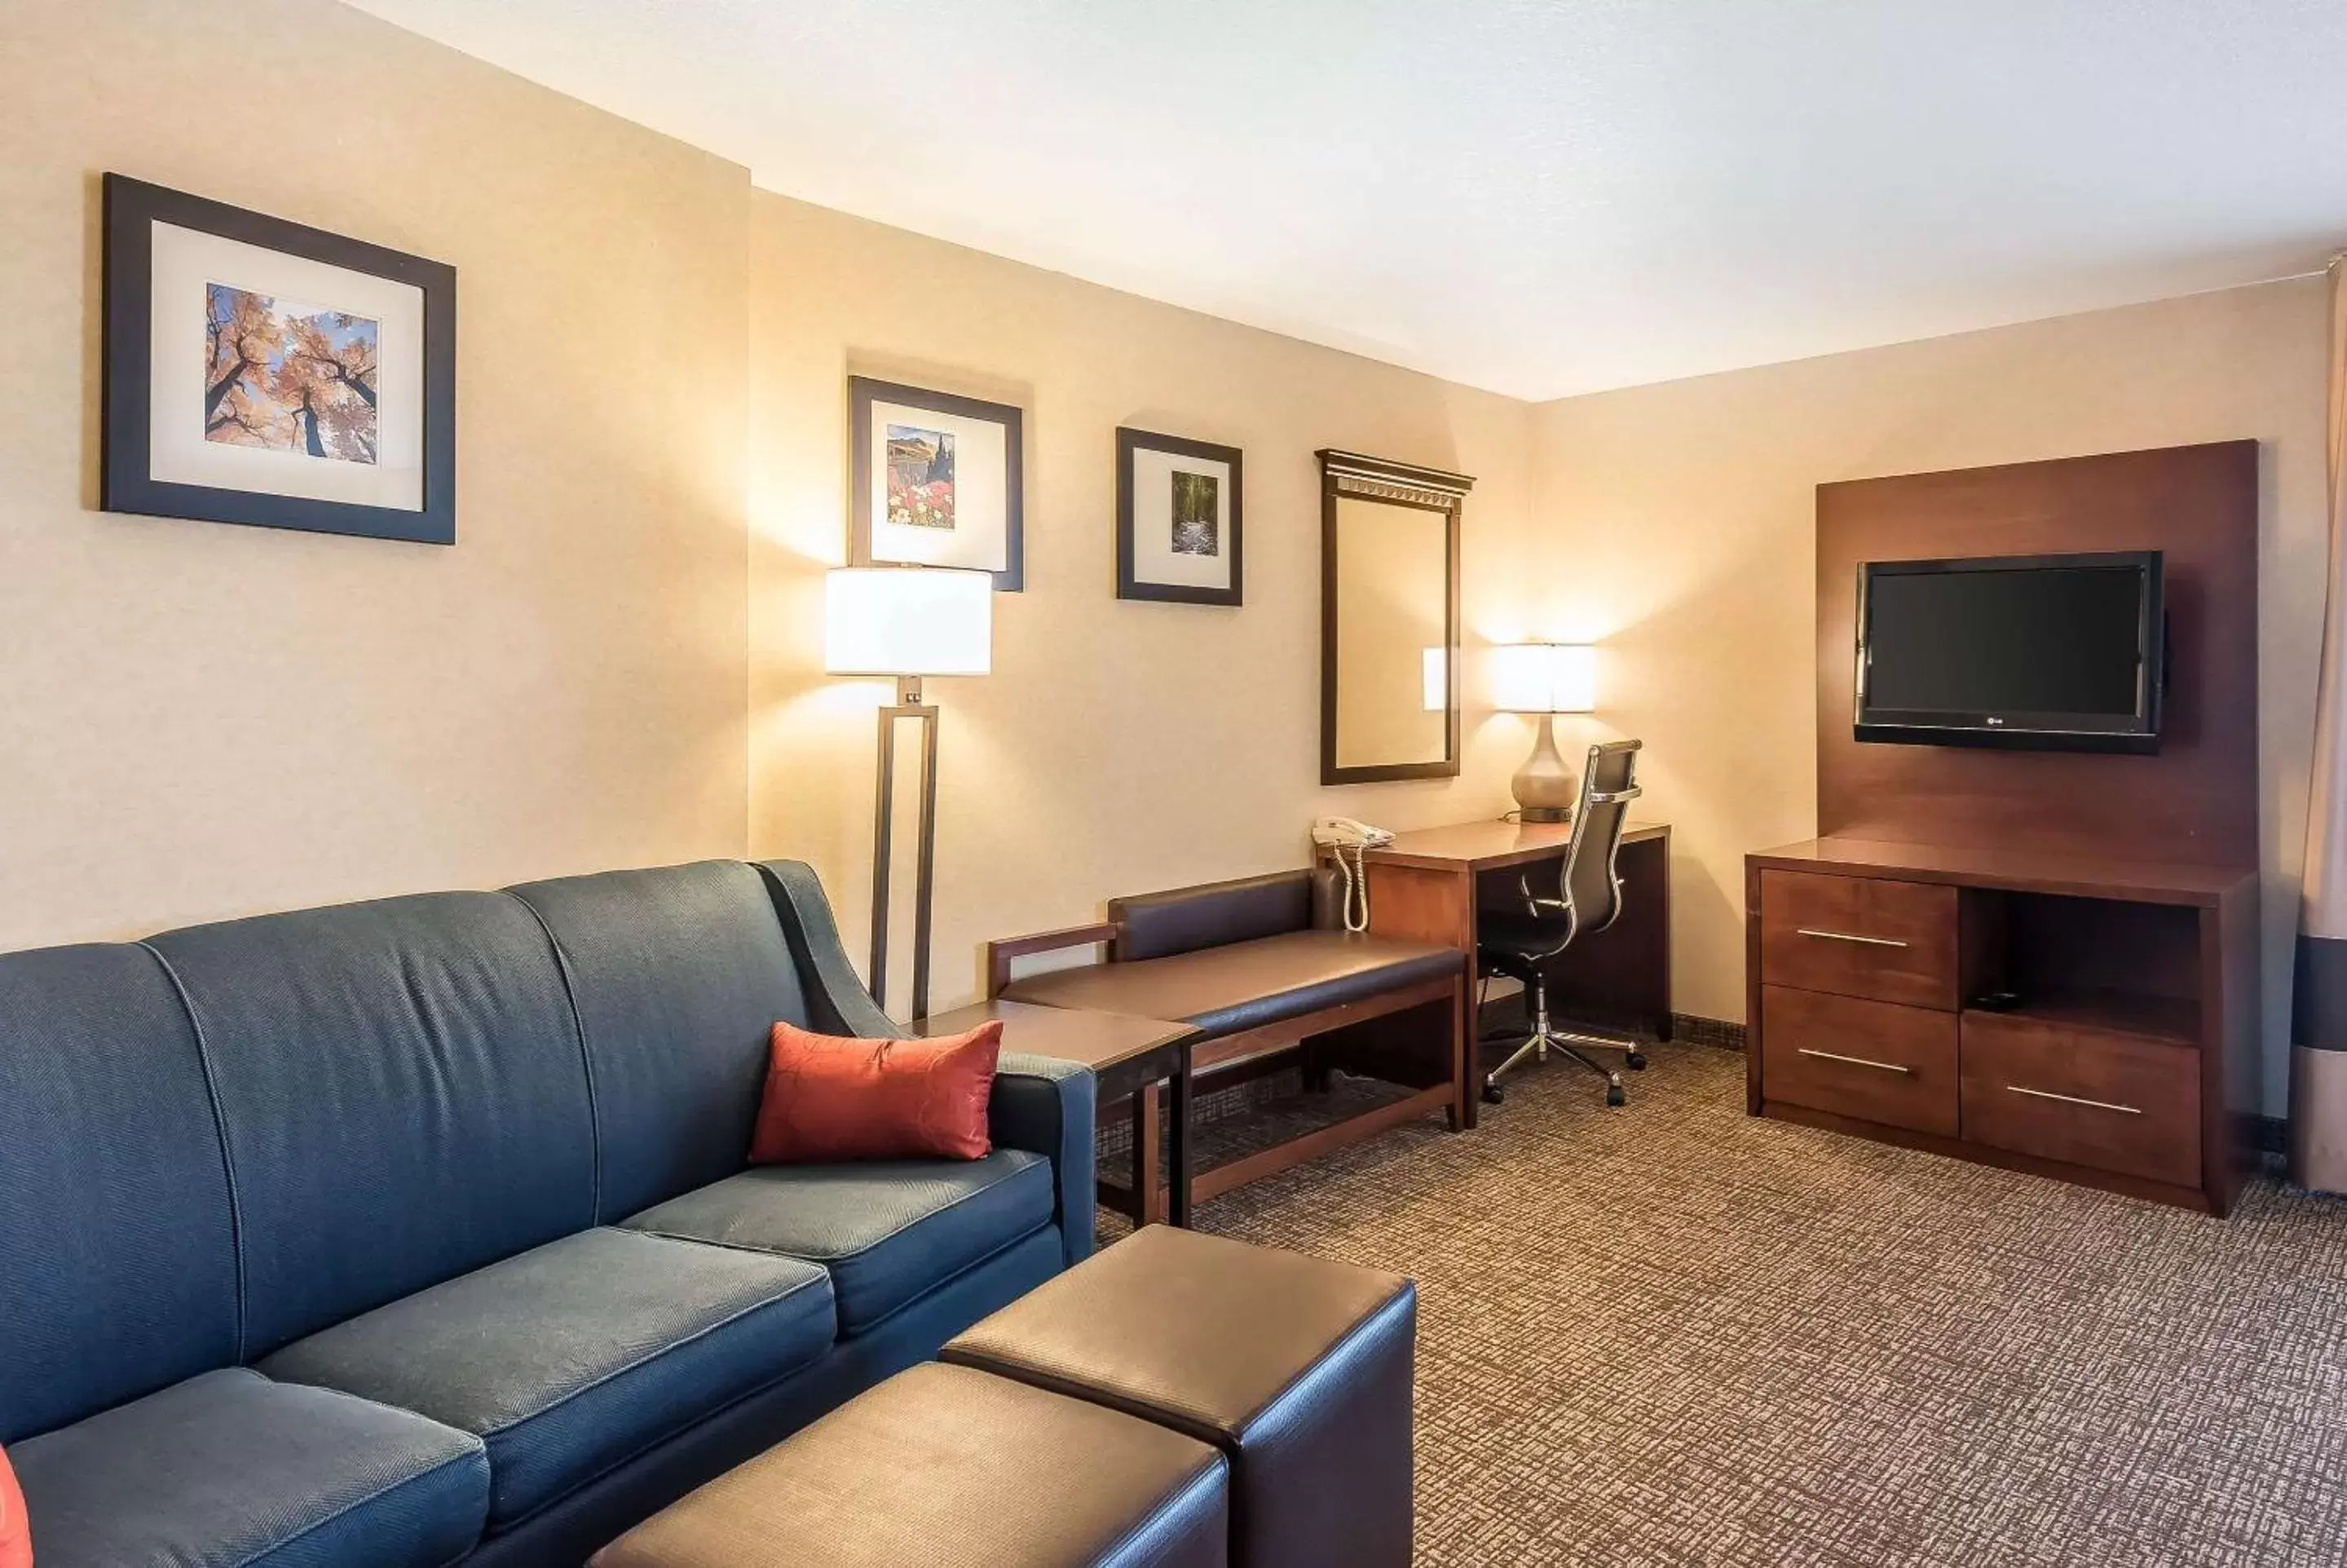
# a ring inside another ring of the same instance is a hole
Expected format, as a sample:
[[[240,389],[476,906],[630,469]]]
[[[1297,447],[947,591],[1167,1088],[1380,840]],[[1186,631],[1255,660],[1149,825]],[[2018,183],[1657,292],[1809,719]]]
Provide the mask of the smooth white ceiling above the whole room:
[[[2347,242],[2342,0],[359,5],[770,190],[1535,399]]]

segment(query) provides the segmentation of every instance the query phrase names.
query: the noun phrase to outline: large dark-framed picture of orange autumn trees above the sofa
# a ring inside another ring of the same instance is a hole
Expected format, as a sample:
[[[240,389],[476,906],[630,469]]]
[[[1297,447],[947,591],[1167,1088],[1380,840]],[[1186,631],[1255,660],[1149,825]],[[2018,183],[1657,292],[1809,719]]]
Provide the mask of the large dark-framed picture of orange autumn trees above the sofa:
[[[455,268],[106,176],[99,505],[455,542]]]

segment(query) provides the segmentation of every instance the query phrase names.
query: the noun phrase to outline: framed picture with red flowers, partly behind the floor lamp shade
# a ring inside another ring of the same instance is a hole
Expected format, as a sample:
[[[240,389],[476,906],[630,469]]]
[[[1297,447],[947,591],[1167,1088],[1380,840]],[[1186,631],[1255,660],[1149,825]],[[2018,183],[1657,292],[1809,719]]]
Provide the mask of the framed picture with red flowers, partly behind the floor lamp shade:
[[[962,566],[1026,584],[1023,415],[1009,404],[847,378],[850,566]]]

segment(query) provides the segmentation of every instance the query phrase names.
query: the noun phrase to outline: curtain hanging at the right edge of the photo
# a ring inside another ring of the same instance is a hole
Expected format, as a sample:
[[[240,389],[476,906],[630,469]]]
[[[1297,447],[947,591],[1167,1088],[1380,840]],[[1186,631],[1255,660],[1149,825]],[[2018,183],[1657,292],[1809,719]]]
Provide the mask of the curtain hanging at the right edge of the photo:
[[[2347,256],[2331,261],[2331,573],[2291,1021],[2291,1181],[2347,1192]]]

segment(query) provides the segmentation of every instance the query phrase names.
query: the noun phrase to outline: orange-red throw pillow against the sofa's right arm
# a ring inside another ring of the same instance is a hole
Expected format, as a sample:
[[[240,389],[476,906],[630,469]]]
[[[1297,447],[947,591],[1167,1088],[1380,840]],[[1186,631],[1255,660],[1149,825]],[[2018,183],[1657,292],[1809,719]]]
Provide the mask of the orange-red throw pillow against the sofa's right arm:
[[[1002,1023],[943,1040],[843,1040],[775,1026],[751,1164],[979,1160],[993,1148]]]

